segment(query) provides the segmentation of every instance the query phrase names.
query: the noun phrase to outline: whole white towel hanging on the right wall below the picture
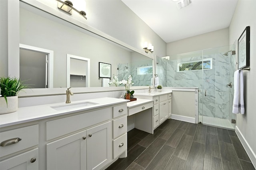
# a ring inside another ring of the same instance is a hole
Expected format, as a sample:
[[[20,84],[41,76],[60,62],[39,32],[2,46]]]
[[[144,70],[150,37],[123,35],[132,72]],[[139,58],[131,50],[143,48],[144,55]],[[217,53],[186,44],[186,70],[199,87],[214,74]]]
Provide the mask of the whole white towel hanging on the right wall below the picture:
[[[234,73],[234,100],[232,113],[244,114],[244,78],[242,70],[237,70]]]

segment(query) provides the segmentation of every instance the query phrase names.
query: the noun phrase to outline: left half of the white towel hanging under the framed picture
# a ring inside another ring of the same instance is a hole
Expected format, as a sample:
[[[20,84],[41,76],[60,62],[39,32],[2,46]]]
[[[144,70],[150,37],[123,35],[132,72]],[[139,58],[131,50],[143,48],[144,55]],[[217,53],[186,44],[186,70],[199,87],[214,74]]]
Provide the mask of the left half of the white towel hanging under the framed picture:
[[[239,113],[239,70],[234,73],[234,99],[232,113]]]

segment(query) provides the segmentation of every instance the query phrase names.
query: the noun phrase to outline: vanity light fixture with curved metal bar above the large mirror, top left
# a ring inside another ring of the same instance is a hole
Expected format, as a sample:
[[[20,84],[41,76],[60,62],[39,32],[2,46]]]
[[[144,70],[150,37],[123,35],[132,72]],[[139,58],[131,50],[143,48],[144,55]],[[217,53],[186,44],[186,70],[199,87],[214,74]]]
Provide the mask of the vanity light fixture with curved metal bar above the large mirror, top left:
[[[72,15],[72,10],[74,10],[74,11],[78,12],[78,14],[80,14],[81,16],[83,16],[87,20],[86,13],[84,11],[78,11],[76,8],[74,8],[71,1],[69,1],[69,0],[65,0],[65,1],[56,0],[56,1],[58,1],[58,8],[60,10],[63,10],[63,11],[67,12],[70,15]]]

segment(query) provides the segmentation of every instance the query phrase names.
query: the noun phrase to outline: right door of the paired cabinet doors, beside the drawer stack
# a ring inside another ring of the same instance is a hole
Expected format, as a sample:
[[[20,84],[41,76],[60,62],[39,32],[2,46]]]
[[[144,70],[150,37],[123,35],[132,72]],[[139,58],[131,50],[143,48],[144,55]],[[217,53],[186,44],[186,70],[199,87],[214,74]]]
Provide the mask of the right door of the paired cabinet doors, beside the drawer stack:
[[[87,170],[99,170],[112,158],[111,122],[87,130]]]

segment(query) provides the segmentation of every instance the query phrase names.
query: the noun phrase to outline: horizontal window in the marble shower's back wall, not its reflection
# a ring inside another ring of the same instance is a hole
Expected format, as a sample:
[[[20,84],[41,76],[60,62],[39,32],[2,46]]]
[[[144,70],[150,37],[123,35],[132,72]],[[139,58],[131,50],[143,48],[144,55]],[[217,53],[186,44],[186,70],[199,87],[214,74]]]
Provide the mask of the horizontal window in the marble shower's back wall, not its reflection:
[[[212,58],[206,58],[198,61],[189,61],[177,64],[177,72],[180,71],[194,71],[202,69],[212,69]]]

